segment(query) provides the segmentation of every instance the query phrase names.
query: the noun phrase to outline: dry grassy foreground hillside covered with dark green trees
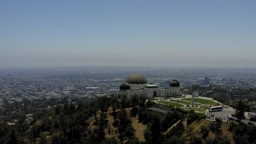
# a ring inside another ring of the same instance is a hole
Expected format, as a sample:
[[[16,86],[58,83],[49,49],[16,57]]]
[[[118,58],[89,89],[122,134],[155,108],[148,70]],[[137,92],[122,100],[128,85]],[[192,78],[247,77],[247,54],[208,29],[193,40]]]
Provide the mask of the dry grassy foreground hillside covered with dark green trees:
[[[119,99],[119,100],[118,100]],[[149,111],[153,101],[134,95],[57,105],[31,125],[0,124],[1,144],[253,144],[255,126],[205,120],[193,110]]]

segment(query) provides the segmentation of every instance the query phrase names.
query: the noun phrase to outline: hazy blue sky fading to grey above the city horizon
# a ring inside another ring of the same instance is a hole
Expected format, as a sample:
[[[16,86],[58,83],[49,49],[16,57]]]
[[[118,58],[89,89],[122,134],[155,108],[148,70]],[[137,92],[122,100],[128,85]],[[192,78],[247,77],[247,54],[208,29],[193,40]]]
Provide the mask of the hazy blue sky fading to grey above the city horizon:
[[[255,0],[1,0],[0,67],[256,67]]]

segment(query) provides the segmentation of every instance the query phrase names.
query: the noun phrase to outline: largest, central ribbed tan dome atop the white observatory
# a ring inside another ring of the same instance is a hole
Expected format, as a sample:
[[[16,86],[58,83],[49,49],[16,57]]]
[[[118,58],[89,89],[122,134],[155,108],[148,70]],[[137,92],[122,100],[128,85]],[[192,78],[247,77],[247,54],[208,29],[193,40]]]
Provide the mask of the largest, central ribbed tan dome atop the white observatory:
[[[128,77],[125,79],[125,82],[128,82],[129,84],[146,84],[148,81],[146,77],[140,73],[135,72],[131,75],[128,75]]]

